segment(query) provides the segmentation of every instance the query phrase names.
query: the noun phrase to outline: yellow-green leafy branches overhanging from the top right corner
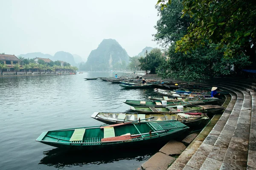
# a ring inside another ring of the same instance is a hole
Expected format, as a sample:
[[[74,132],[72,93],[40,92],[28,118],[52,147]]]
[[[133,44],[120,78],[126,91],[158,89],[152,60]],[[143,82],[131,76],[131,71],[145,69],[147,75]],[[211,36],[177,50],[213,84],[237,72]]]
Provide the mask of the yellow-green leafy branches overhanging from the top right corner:
[[[166,2],[159,3],[162,6]],[[216,49],[225,48],[226,57],[245,53],[255,62],[256,3],[253,0],[183,0],[182,13],[194,21],[187,34],[176,42],[176,51],[191,52],[209,41],[218,45]]]

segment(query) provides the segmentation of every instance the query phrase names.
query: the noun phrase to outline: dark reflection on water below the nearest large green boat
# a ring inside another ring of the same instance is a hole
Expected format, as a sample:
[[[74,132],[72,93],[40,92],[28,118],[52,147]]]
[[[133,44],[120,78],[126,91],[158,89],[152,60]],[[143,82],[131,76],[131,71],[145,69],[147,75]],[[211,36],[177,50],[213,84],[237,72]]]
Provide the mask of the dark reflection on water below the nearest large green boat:
[[[109,168],[108,163],[115,162],[115,164],[112,164],[111,168],[121,168],[123,170],[127,168],[127,170],[130,170],[140,167],[144,161],[157,153],[161,147],[162,146],[154,146],[147,149],[134,149],[125,152],[119,152],[119,150],[116,150],[116,152],[86,152],[83,150],[67,151],[62,150],[61,148],[55,148],[45,151],[45,156],[41,159],[39,164],[45,164],[55,168],[86,166],[89,169],[104,170]],[[126,167],[124,167],[125,164],[127,164]]]

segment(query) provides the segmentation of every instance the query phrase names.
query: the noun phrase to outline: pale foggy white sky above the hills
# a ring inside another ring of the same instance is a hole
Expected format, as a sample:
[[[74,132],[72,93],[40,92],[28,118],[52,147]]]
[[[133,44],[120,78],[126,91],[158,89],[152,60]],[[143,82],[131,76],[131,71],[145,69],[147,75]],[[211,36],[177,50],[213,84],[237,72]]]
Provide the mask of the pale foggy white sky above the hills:
[[[157,0],[0,0],[0,53],[66,51],[88,57],[103,39],[130,57],[151,41]]]

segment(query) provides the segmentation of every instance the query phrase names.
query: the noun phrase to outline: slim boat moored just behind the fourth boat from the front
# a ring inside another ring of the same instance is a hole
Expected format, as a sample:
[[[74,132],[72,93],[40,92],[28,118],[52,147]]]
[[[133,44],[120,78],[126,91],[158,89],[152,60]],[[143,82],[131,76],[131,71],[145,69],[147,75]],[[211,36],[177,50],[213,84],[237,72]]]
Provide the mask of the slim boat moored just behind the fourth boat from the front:
[[[216,97],[188,97],[188,98],[177,98],[177,99],[173,99],[173,98],[169,98],[168,96],[163,96],[163,97],[156,97],[156,96],[148,96],[148,99],[151,100],[158,100],[158,101],[167,101],[167,102],[178,102],[178,101],[183,101],[183,102],[196,102],[196,101],[201,101],[204,102],[205,104],[209,104],[209,105],[214,105],[217,104],[220,99],[216,98]]]

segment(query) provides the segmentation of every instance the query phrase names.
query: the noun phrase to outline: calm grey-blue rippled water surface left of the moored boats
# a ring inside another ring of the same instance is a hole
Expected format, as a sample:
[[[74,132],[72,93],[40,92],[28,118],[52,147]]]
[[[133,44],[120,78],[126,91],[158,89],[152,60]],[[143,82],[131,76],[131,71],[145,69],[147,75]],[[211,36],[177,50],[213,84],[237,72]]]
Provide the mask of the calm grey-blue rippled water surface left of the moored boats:
[[[121,74],[119,74],[120,76]],[[159,148],[137,152],[66,152],[35,139],[48,130],[102,125],[93,112],[128,111],[126,99],[157,96],[152,89],[124,90],[118,84],[83,78],[111,73],[0,78],[1,170],[134,170]]]

